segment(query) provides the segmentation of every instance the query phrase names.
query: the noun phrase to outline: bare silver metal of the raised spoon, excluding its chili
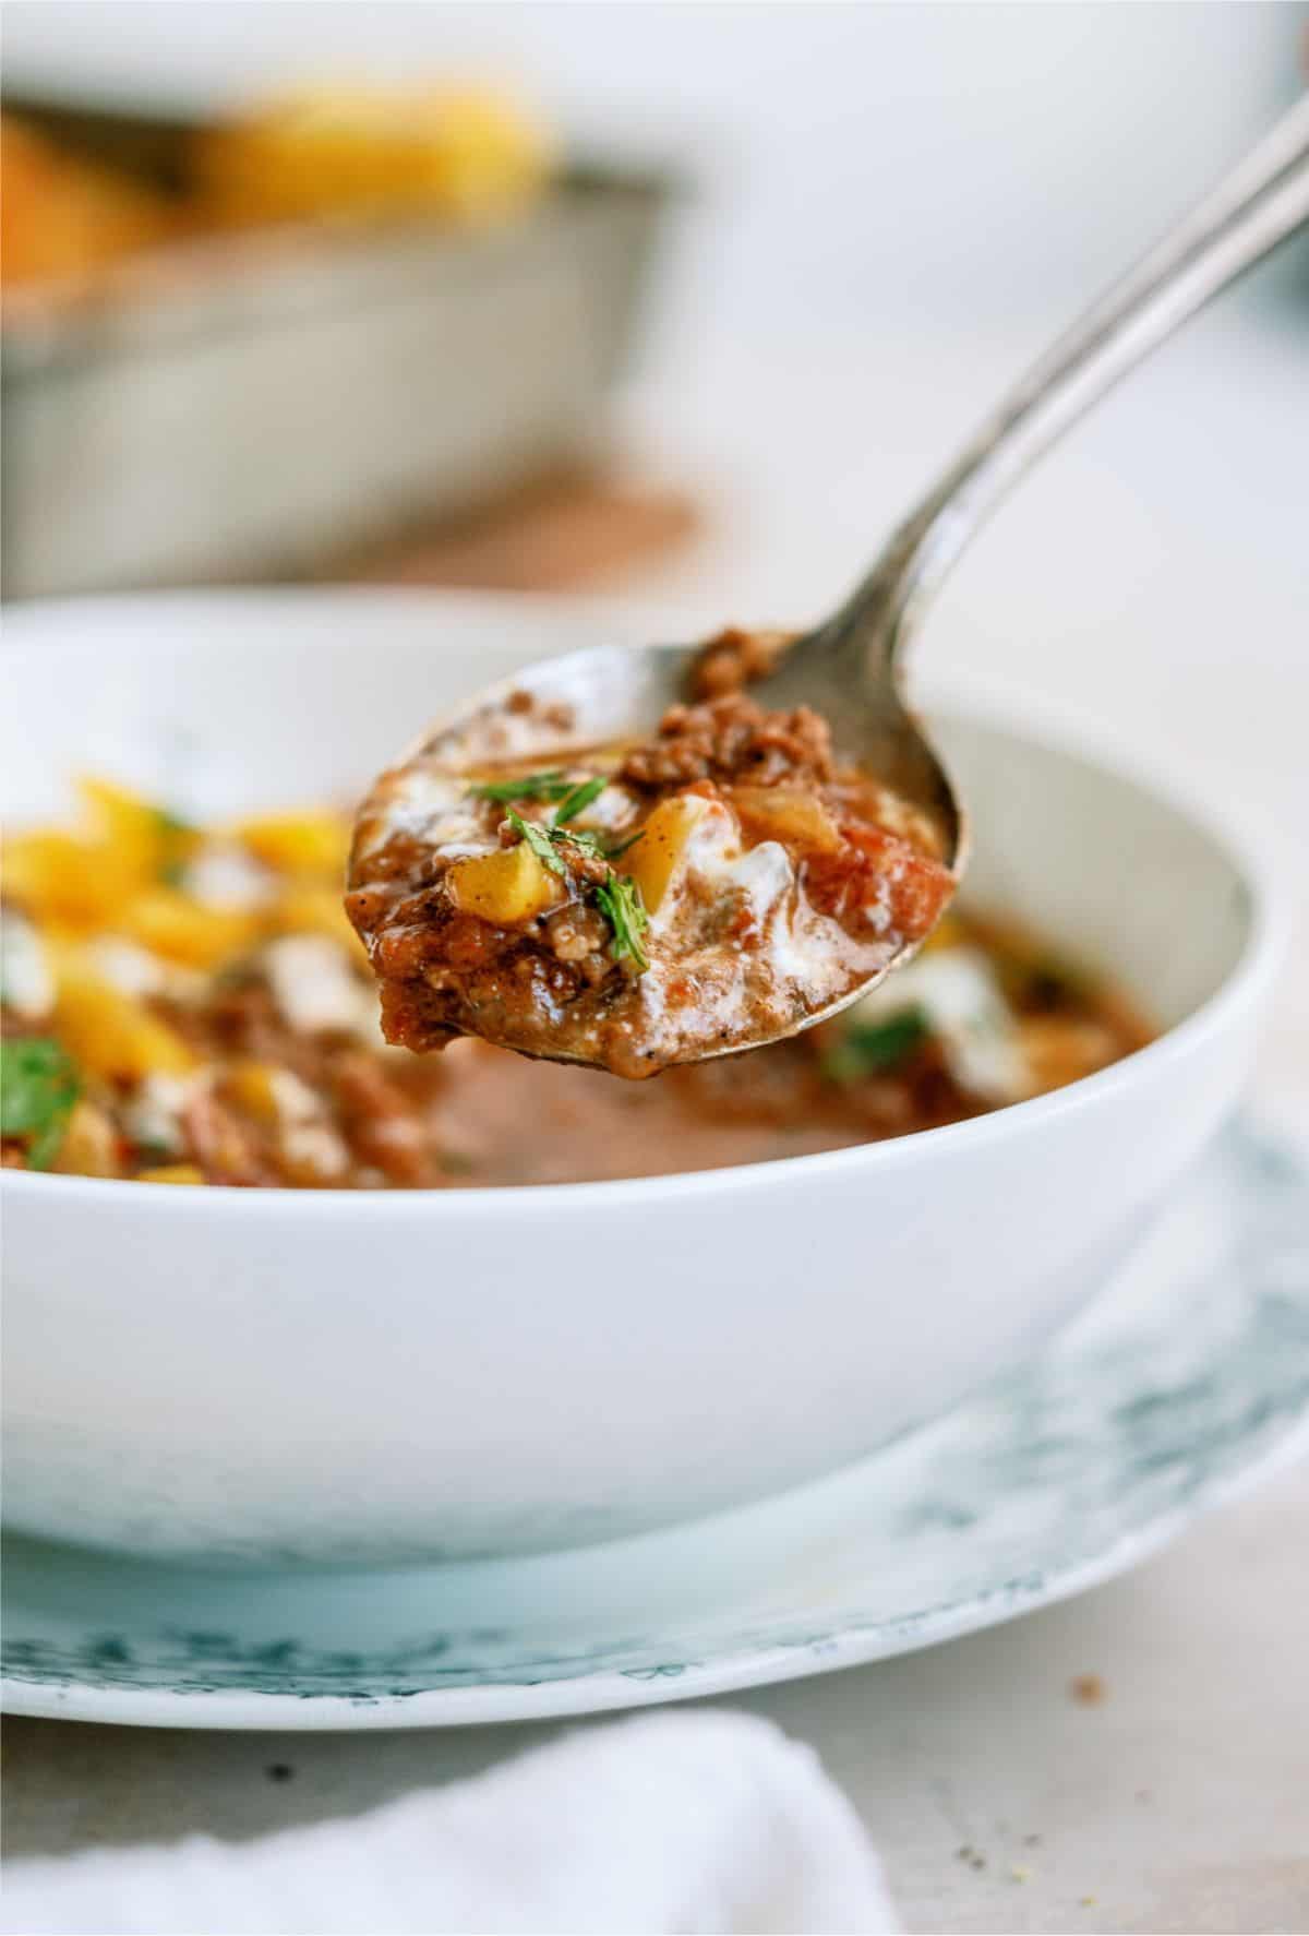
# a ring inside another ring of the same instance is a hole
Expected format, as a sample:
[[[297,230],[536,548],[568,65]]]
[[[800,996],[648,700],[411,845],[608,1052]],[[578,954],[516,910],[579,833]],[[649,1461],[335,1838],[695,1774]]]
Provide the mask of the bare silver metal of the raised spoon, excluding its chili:
[[[1309,95],[1059,337],[898,525],[840,610],[796,639],[776,670],[751,685],[751,697],[765,707],[804,703],[825,714],[842,755],[931,815],[957,879],[968,846],[964,809],[902,695],[906,649],[928,600],[991,507],[1036,459],[1189,316],[1305,223]],[[430,728],[416,753],[453,772],[488,759],[558,755],[562,734],[542,722],[542,709],[550,707],[567,711],[573,747],[645,736],[684,697],[695,650],[606,647],[527,666]],[[536,707],[507,714],[511,691],[531,693]],[[902,949],[840,1001],[780,1034],[796,1034],[848,1007],[910,953]],[[711,1047],[705,1059],[765,1040],[778,1038]]]

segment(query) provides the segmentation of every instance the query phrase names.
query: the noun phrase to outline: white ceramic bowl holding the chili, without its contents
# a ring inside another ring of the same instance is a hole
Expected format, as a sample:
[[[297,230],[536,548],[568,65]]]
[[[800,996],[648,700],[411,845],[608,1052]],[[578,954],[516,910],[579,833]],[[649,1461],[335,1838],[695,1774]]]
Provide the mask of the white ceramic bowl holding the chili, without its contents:
[[[12,612],[6,815],[110,767],[196,809],[358,788],[536,652],[540,600],[219,594]],[[941,1413],[1106,1282],[1232,1109],[1268,985],[1249,860],[1096,757],[943,722],[976,898],[1166,1034],[897,1142],[556,1189],[141,1189],[4,1173],[6,1516],[143,1553],[569,1545],[813,1477]]]

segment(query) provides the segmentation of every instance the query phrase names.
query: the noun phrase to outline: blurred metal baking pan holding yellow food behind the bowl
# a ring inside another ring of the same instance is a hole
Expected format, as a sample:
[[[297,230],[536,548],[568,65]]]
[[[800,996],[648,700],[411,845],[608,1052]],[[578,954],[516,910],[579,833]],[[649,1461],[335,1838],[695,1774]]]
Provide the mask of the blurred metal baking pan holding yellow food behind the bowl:
[[[167,124],[85,126],[167,172]],[[248,232],[6,296],[4,594],[316,571],[585,451],[668,194],[573,170],[496,230]]]

